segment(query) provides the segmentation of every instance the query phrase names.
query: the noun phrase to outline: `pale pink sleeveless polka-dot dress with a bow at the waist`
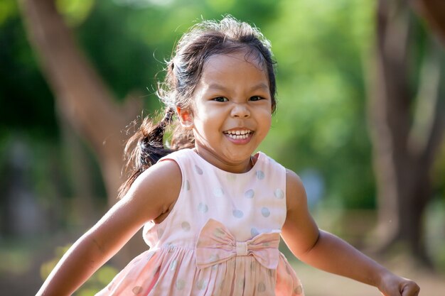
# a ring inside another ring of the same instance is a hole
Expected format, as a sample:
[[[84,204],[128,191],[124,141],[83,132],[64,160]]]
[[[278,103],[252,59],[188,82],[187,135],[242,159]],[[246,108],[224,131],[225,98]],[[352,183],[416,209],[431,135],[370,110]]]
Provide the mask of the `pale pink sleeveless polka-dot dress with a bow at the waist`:
[[[286,219],[286,170],[259,152],[245,173],[225,172],[191,149],[174,160],[182,187],[160,224],[144,225],[149,251],[132,260],[97,295],[304,295],[279,252]]]

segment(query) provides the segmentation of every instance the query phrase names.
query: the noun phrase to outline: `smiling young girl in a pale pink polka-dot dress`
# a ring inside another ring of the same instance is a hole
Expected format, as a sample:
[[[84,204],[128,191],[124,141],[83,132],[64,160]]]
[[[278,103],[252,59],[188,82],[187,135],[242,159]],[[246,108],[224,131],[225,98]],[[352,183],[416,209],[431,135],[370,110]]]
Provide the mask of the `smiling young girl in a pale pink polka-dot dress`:
[[[166,114],[158,124],[146,119],[130,139],[135,167],[122,199],[70,248],[38,295],[71,295],[141,226],[149,251],[97,295],[304,295],[279,253],[280,236],[316,268],[383,295],[418,295],[416,283],[318,229],[294,172],[252,155],[276,106],[270,45],[256,28],[231,17],[194,26],[161,89]],[[176,121],[164,148],[164,129]]]

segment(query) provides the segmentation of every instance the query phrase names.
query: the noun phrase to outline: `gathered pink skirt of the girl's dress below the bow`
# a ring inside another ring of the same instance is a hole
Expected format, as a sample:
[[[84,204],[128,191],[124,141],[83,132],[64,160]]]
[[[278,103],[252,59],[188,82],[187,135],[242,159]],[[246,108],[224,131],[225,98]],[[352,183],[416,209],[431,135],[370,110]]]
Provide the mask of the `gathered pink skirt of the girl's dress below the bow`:
[[[195,262],[193,249],[175,246],[146,251],[97,295],[304,295],[299,279],[282,253],[277,269],[265,268],[253,256],[234,256],[207,268],[198,268]]]

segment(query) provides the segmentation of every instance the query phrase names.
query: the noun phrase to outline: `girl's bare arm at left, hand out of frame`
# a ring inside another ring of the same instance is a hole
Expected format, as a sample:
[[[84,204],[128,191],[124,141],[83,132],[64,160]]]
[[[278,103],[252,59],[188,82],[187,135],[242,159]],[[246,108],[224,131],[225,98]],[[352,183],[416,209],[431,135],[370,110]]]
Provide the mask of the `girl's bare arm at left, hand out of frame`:
[[[181,170],[163,161],[143,172],[129,192],[65,253],[37,295],[71,295],[141,226],[166,214],[181,189]]]

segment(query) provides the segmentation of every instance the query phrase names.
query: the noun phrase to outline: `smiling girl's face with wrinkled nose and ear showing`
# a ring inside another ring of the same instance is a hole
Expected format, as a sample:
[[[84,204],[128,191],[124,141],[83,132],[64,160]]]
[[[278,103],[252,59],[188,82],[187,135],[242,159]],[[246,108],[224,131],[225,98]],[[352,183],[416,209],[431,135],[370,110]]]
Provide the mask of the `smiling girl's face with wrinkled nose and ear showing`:
[[[195,147],[229,172],[250,169],[250,155],[267,135],[272,99],[267,72],[245,51],[213,55],[193,92],[192,110],[178,110],[193,127]]]

